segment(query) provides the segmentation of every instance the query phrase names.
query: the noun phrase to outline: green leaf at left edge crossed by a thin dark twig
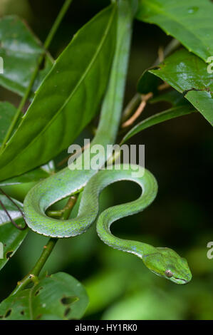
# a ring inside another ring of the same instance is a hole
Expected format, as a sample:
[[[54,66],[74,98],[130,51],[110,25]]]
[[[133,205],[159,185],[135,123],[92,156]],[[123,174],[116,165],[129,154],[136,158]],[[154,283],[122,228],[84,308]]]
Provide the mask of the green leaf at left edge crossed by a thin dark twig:
[[[7,199],[5,195],[0,195],[0,200],[3,202],[6,210],[9,212],[9,215],[11,215],[11,218],[15,220],[16,224],[24,227],[25,222],[21,217],[21,213],[17,207],[9,199]],[[16,202],[20,208],[23,207],[21,202],[18,202],[17,200],[14,200],[14,202]],[[16,250],[20,247],[21,243],[26,237],[27,232],[27,228],[26,230],[19,230],[18,228],[14,227],[0,204],[0,242],[3,244],[4,248],[4,258],[0,258],[0,269],[4,267],[4,265],[14,255]]]

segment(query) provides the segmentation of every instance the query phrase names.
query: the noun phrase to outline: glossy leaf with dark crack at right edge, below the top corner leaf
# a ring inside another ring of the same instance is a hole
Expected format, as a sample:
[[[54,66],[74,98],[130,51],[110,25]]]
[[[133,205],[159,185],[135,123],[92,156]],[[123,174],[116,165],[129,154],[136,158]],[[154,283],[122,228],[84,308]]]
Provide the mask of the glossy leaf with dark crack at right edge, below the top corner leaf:
[[[213,125],[213,74],[207,72],[207,64],[182,49],[166,58],[159,67],[150,73],[167,81],[175,90],[183,93]]]

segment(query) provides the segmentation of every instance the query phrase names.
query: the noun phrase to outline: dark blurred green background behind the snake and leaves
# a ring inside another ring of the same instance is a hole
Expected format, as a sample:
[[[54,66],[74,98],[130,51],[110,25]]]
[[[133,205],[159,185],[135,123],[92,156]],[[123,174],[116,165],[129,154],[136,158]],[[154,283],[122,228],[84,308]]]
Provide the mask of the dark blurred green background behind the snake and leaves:
[[[49,51],[56,58],[73,34],[98,11],[105,0],[73,0]],[[44,41],[59,9],[59,0],[0,0],[0,16],[17,14]],[[158,48],[171,38],[157,26],[135,21],[125,103],[136,91],[137,80],[157,58]],[[19,104],[19,96],[1,88],[0,100]],[[157,103],[145,108],[142,118],[168,108]],[[85,130],[76,143],[91,136]],[[187,258],[192,282],[175,285],[147,270],[131,254],[111,249],[95,232],[61,239],[43,271],[67,272],[83,282],[90,297],[85,319],[213,319],[213,259],[207,258],[212,232],[212,128],[199,113],[167,121],[144,130],[129,143],[145,144],[145,167],[159,185],[155,202],[145,212],[113,225],[113,233],[156,247],[171,247]],[[62,153],[56,164],[64,157]],[[22,189],[21,189],[22,187]],[[25,185],[12,190],[20,197]],[[101,210],[134,200],[137,185],[117,182],[103,191]],[[73,215],[77,208],[75,207]],[[46,237],[29,232],[14,257],[0,273],[0,299],[31,269]]]

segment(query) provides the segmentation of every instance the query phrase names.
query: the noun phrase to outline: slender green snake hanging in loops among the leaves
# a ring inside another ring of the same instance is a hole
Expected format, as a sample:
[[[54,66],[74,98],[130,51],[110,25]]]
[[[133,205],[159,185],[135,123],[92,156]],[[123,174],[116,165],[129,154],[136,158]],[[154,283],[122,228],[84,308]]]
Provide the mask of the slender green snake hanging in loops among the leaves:
[[[100,121],[95,137],[90,145],[115,143],[120,124],[125,92],[125,78],[128,69],[129,49],[133,22],[132,0],[118,1],[118,25],[115,56],[108,83],[108,89],[100,111]],[[99,157],[98,168],[86,168],[91,159],[91,148],[87,148],[76,158],[75,168],[72,163],[38,182],[24,200],[24,215],[28,227],[38,234],[53,238],[73,237],[86,232],[97,220],[98,237],[108,246],[123,252],[135,254],[142,259],[143,264],[160,277],[169,279],[176,284],[186,284],[192,279],[187,260],[168,247],[153,247],[150,244],[120,239],[110,231],[113,222],[128,215],[134,215],[145,210],[157,195],[157,181],[150,171],[137,165],[142,170],[140,176],[133,174],[133,165],[125,163],[110,170],[103,168],[109,157]],[[88,155],[90,154],[90,155]],[[93,154],[94,155],[94,154]],[[83,164],[83,165],[82,165]],[[119,180],[130,180],[141,187],[141,195],[137,200],[122,205],[116,205],[104,210],[99,215],[98,202],[100,192]],[[65,197],[82,192],[78,215],[68,220],[48,217],[46,210]]]

